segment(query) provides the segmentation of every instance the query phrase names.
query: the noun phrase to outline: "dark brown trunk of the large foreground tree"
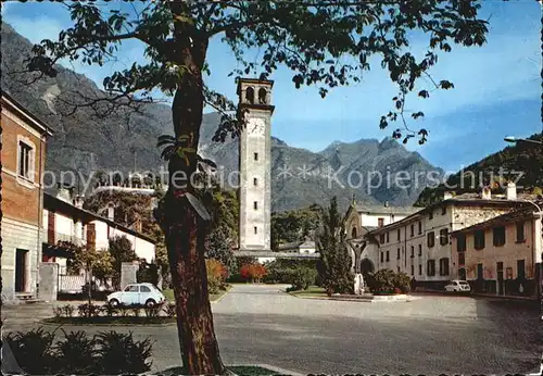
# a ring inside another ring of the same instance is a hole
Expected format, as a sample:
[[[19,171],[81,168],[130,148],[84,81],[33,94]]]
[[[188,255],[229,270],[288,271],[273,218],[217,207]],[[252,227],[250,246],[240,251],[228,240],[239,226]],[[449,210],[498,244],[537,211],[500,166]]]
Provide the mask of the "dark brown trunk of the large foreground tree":
[[[203,112],[201,70],[206,48],[207,45],[202,43],[182,51],[181,63],[189,72],[182,75],[172,111],[176,139],[186,136],[180,147],[189,151],[171,158],[168,191],[156,212],[168,251],[182,366],[191,375],[219,375],[226,372],[215,337],[207,291],[204,254],[209,226],[186,198],[187,193],[194,192],[190,181],[197,172]],[[194,55],[194,51],[200,54]]]

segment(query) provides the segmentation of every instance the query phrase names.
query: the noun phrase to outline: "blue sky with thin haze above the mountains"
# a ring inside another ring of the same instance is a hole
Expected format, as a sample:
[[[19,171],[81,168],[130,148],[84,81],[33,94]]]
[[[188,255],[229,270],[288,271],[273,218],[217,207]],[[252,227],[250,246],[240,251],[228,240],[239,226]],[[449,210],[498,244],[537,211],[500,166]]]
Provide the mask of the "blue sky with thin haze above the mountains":
[[[427,100],[412,96],[407,102],[407,106],[426,114],[413,126],[430,131],[428,143],[409,142],[407,147],[446,171],[498,151],[505,147],[506,135],[542,131],[541,5],[534,0],[485,0],[482,4],[481,16],[490,17],[488,43],[481,48],[453,46],[453,51],[442,53],[431,71],[435,79],[453,82],[455,89],[433,92]],[[31,42],[53,39],[71,25],[65,9],[54,3],[2,3],[2,16]],[[424,48],[424,39],[412,40],[414,53]],[[124,45],[119,57],[119,62],[104,68],[65,65],[101,87],[103,77],[111,72],[144,61],[142,46],[137,42]],[[214,40],[207,57],[212,71],[207,85],[236,99],[233,77],[228,77],[236,62],[228,48]],[[272,77],[276,105],[272,134],[289,145],[318,151],[334,140],[381,139],[392,133],[378,127],[380,115],[390,110],[390,98],[396,91],[379,63],[372,65],[363,83],[334,88],[326,99],[315,88],[296,90],[291,77],[286,68]]]

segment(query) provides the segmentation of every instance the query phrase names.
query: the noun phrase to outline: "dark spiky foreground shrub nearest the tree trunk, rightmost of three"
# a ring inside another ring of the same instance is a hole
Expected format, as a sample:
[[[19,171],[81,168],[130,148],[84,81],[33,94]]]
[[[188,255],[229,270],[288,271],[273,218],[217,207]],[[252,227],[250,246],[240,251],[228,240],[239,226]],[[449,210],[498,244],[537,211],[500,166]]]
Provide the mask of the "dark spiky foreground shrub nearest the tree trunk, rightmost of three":
[[[102,375],[141,374],[151,369],[152,343],[149,338],[135,341],[132,334],[103,331],[96,336],[99,344],[99,369]]]

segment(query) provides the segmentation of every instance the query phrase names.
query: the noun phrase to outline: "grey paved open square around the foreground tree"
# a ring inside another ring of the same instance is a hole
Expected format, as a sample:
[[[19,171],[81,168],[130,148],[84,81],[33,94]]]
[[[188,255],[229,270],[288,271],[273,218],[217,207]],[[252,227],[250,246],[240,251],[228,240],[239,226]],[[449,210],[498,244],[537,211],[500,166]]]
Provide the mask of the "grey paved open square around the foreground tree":
[[[470,297],[419,297],[393,303],[326,301],[294,298],[281,288],[236,285],[212,305],[226,364],[266,363],[328,374],[539,371],[543,337],[538,304]],[[4,333],[28,329],[37,325],[33,321],[50,315],[51,304],[4,309]],[[178,364],[175,325],[114,329],[156,341],[153,371]]]

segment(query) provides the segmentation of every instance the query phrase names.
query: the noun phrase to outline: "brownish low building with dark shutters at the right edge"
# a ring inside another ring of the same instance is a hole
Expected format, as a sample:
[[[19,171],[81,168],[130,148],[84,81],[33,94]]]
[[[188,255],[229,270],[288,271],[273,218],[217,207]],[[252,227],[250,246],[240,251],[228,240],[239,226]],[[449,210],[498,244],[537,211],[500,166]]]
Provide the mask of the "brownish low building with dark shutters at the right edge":
[[[458,278],[476,292],[536,297],[541,226],[527,208],[453,233]]]

